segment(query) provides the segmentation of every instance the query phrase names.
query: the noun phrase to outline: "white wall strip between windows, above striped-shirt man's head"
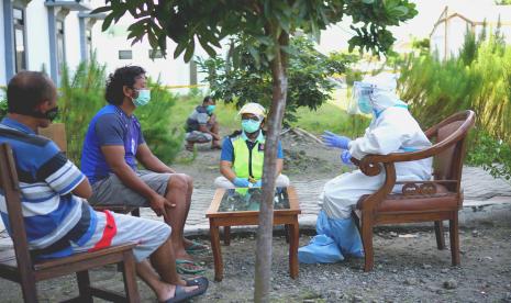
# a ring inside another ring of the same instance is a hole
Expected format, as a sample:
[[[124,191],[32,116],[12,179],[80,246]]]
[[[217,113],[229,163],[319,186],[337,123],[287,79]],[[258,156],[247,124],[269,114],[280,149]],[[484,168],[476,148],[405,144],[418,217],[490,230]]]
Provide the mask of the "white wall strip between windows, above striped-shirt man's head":
[[[48,11],[44,1],[33,0],[26,7],[27,68],[49,74]]]

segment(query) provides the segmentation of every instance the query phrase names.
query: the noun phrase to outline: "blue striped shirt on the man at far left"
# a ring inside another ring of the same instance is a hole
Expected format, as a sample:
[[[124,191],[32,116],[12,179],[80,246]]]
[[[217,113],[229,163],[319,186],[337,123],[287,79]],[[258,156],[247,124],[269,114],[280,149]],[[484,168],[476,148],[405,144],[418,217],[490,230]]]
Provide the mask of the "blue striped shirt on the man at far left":
[[[0,143],[14,154],[30,249],[43,251],[43,258],[71,255],[70,242],[86,243],[96,228],[96,213],[71,194],[86,177],[55,143],[9,117],[0,123]],[[2,191],[0,214],[12,235]]]

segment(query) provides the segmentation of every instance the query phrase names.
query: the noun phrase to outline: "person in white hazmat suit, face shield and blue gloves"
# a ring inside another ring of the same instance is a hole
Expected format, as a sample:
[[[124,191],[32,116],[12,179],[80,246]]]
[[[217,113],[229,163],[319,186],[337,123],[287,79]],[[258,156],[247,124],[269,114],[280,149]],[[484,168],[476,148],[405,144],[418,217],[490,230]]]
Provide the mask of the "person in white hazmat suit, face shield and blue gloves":
[[[362,82],[354,83],[352,104],[362,113],[373,114],[369,127],[356,139],[330,132],[323,135],[326,146],[342,149],[344,164],[351,165],[352,157],[359,160],[369,154],[406,153],[431,146],[408,105],[397,97],[396,86],[396,76],[391,74],[365,77]],[[430,180],[431,172],[431,158],[396,164],[397,181]],[[319,198],[322,210],[318,215],[318,235],[298,250],[300,262],[336,262],[347,255],[363,257],[364,248],[352,209],[362,195],[376,192],[384,181],[385,171],[369,177],[360,170],[327,181]],[[397,190],[400,188],[395,188]]]

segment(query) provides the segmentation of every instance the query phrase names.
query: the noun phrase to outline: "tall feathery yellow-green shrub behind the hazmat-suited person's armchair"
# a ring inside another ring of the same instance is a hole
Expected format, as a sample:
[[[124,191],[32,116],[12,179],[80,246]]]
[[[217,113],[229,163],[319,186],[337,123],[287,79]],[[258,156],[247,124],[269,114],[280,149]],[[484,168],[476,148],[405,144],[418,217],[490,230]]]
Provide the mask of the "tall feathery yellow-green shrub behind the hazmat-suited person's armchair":
[[[500,32],[467,33],[458,57],[411,56],[402,67],[403,100],[425,126],[463,109],[476,112],[468,161],[495,177],[511,177],[511,47]]]

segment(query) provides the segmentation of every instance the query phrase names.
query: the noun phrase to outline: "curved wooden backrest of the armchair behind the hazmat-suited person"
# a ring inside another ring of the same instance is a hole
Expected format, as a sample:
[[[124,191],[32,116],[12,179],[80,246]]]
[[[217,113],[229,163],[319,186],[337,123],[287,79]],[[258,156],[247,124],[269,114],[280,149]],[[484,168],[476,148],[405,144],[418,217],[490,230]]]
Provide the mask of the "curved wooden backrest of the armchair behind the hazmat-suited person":
[[[451,191],[457,192],[460,189],[465,142],[474,122],[474,112],[465,111],[447,117],[426,132],[430,138],[436,139],[435,144],[448,145],[434,157],[433,175],[435,180],[456,181],[446,184]]]

